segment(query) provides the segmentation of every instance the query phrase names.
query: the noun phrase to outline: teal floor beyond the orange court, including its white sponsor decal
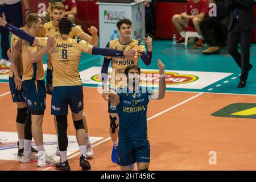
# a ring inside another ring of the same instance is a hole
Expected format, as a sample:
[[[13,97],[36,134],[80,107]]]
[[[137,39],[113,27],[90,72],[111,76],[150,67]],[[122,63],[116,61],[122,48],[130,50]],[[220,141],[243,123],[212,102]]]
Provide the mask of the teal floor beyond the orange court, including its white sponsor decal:
[[[240,89],[237,88],[237,84],[241,70],[229,56],[226,47],[222,47],[218,55],[203,55],[201,53],[203,49],[206,47],[194,49],[193,44],[190,44],[188,48],[185,48],[183,44],[172,46],[171,40],[154,40],[151,65],[144,65],[140,60],[139,67],[143,72],[157,72],[156,61],[162,60],[165,64],[167,78],[169,78],[167,90],[256,94],[255,44],[251,45],[250,53],[250,63],[254,67],[249,73],[246,87]],[[84,86],[101,84],[97,75],[101,71],[103,59],[103,56],[82,53],[79,71]],[[47,56],[44,56],[43,61],[44,64],[47,63]],[[1,72],[0,81],[8,81],[7,72]]]

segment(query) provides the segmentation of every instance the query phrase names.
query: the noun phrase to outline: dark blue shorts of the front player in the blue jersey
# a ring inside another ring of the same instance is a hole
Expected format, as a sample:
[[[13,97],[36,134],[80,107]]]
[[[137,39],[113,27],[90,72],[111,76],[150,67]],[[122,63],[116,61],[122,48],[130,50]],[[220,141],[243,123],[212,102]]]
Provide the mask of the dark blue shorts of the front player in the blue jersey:
[[[150,162],[150,143],[148,140],[144,139],[118,142],[117,164],[119,166],[130,166],[135,162]]]

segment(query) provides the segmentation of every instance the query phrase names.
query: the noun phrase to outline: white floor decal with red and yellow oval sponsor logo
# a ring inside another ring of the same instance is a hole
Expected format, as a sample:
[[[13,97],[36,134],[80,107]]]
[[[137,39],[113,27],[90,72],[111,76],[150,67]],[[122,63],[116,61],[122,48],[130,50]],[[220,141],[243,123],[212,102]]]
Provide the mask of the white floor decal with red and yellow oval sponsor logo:
[[[112,68],[109,68],[108,80]],[[141,69],[142,86],[157,87],[159,81],[158,69]],[[101,67],[90,67],[80,72],[83,84],[93,84],[101,88]],[[166,69],[166,87],[179,89],[204,89],[215,84],[233,73],[225,72],[202,72],[202,71],[178,71]]]

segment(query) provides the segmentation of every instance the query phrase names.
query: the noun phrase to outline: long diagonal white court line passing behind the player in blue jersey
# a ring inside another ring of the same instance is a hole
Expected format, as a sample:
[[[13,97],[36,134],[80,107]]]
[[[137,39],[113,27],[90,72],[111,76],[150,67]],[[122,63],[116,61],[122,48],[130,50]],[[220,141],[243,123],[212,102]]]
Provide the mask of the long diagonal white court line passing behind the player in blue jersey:
[[[150,121],[151,119],[153,119],[153,118],[155,118],[155,117],[158,117],[159,115],[164,114],[164,113],[166,113],[166,112],[168,112],[168,111],[174,109],[175,107],[178,107],[178,106],[180,106],[180,105],[183,105],[183,104],[185,104],[186,102],[191,101],[191,100],[193,100],[194,98],[201,96],[202,94],[204,94],[204,93],[199,93],[199,94],[197,94],[196,96],[193,96],[193,97],[188,98],[187,100],[185,100],[185,101],[183,101],[183,102],[180,102],[179,104],[176,104],[175,106],[172,106],[172,107],[170,107],[170,108],[168,108],[168,109],[166,109],[166,110],[163,110],[162,112],[160,112],[160,113],[158,113],[158,114],[155,114],[155,115],[153,115],[153,116],[150,117],[150,118],[147,118],[147,121]],[[110,139],[111,139],[111,137],[106,138],[105,140],[101,140],[100,142],[98,142],[98,143],[96,143],[96,144],[93,144],[92,147],[96,147],[97,145],[99,145],[99,144],[101,144],[101,143],[104,143],[104,142],[106,142],[106,141],[108,141],[108,140],[110,140]],[[73,158],[73,157],[75,157],[75,156],[77,156],[77,155],[79,155],[79,154],[80,154],[80,152],[77,152],[76,154],[69,156],[69,157],[68,157],[68,160],[71,159],[71,158]],[[52,167],[48,167],[48,168],[43,169],[42,171],[47,171],[47,170],[49,170],[49,169],[51,169],[51,168],[52,168]]]

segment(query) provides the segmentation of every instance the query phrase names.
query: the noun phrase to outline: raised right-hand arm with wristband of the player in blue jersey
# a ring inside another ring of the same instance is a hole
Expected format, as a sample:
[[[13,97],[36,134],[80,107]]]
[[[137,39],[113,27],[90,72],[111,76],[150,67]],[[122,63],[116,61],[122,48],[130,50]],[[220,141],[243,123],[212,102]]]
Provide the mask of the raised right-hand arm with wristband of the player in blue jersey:
[[[166,94],[166,78],[164,76],[164,64],[159,59],[157,65],[159,67],[159,84],[158,90],[152,92],[151,94],[152,100],[160,100],[164,98],[164,95]]]

